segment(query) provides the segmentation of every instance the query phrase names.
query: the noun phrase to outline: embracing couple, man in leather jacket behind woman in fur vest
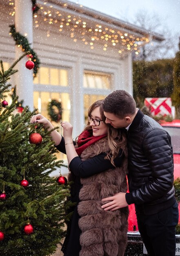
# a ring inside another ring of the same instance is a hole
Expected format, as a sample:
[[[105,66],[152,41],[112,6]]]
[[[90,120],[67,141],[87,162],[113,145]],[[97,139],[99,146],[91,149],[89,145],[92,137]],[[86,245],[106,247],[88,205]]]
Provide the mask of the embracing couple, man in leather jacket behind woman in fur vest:
[[[35,122],[53,128],[40,114],[31,117]],[[67,155],[71,201],[76,202],[62,246],[64,256],[123,256],[128,205],[133,203],[148,255],[175,256],[173,150],[162,126],[136,108],[124,90],[92,104],[77,141],[71,124],[62,121],[61,126],[63,137],[56,130],[50,135]]]

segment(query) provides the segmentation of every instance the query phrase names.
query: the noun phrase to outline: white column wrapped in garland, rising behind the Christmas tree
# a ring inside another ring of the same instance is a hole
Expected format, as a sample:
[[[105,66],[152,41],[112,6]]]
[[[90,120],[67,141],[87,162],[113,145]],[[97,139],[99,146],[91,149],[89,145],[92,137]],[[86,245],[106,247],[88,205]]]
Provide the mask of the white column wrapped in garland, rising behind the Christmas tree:
[[[33,47],[33,11],[31,0],[15,0],[15,28],[22,36],[26,36],[28,42]],[[22,49],[16,45],[16,59],[23,54]],[[19,100],[24,100],[23,105],[29,106],[29,110],[33,110],[33,70],[28,70],[25,63],[28,58],[25,56],[15,68],[16,73],[16,94]]]

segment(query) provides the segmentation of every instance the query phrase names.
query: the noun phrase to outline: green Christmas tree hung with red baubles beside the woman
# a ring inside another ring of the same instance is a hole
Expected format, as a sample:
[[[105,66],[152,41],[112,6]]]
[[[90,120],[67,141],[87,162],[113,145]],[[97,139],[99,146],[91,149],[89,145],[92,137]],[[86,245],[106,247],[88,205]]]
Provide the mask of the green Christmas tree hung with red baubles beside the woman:
[[[0,255],[47,256],[64,236],[69,188],[49,176],[63,164],[54,155],[51,131],[29,123],[36,110],[13,115],[17,97],[5,100],[7,81],[25,55],[7,71],[0,62]]]

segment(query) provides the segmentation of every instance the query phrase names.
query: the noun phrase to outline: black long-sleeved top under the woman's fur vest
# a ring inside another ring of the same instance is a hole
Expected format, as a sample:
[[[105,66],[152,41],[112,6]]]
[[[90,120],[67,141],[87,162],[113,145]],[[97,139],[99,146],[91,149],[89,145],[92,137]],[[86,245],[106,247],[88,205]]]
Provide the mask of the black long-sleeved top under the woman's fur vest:
[[[56,148],[60,152],[66,154],[65,142],[63,137],[60,144],[57,145]],[[114,168],[110,160],[104,159],[105,156],[106,153],[100,153],[99,155],[85,161],[82,161],[80,157],[74,157],[69,164],[69,169],[73,172],[75,176],[89,177],[96,173],[101,173],[110,168]],[[114,164],[116,165],[116,167],[120,167],[122,165],[122,161],[123,154],[122,150],[120,150],[118,157],[114,159]]]

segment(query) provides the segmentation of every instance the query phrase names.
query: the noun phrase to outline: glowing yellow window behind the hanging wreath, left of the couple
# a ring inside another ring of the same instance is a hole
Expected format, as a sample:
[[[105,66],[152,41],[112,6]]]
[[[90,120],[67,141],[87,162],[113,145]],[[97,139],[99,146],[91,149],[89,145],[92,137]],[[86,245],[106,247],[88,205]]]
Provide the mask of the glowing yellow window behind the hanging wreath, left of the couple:
[[[62,120],[70,121],[71,103],[68,89],[68,70],[64,68],[40,67],[37,76],[34,78],[34,108],[38,109],[44,117],[50,119],[47,113],[47,106],[52,99],[62,104]],[[52,121],[53,126],[60,126],[60,123]],[[59,132],[62,134],[62,127]],[[58,159],[66,159],[66,155],[60,153]]]

